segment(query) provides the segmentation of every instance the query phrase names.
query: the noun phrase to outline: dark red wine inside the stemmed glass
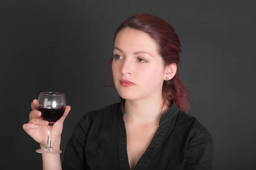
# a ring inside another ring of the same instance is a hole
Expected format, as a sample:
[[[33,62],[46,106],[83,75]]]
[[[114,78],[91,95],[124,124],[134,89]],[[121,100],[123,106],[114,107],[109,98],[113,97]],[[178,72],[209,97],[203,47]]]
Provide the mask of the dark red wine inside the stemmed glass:
[[[43,120],[47,120],[50,124],[54,124],[59,119],[61,119],[61,116],[63,115],[65,108],[44,108],[43,106],[37,107],[38,111],[41,111],[42,115],[41,118]]]

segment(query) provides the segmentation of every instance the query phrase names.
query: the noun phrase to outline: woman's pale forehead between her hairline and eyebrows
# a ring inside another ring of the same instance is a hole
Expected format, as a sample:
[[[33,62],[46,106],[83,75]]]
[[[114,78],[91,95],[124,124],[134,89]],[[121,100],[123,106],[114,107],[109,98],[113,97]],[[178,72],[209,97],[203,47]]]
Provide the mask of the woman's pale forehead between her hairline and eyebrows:
[[[125,28],[120,31],[114,43],[115,47],[121,48],[125,53],[134,51],[147,51],[157,55],[157,44],[143,31]]]

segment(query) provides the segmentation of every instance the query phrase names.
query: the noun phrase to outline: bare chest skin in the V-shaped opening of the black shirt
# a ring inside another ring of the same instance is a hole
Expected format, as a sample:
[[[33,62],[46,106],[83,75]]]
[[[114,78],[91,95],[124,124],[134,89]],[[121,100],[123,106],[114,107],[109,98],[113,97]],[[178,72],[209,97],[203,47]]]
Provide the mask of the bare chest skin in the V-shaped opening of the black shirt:
[[[138,160],[148,148],[157,128],[158,125],[126,127],[127,153],[131,170],[134,169]]]

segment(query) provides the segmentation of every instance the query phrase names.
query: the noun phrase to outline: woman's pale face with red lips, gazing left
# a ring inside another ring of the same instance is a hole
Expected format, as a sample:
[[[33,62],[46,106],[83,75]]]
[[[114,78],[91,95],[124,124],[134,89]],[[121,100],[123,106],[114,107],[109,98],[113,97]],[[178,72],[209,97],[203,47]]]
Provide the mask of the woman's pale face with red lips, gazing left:
[[[113,80],[122,98],[137,100],[161,95],[165,67],[157,52],[157,44],[148,34],[123,29],[116,36],[113,56]],[[122,79],[134,84],[122,83]]]

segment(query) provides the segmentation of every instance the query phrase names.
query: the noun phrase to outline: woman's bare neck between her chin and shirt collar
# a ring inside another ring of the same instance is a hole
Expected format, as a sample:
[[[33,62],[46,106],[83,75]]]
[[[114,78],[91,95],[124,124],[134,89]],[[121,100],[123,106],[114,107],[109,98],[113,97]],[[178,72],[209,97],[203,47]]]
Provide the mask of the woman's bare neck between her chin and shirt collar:
[[[125,99],[125,122],[133,122],[136,124],[158,124],[161,115],[170,108],[166,104],[163,105],[163,101],[162,96],[154,96],[139,100]]]

